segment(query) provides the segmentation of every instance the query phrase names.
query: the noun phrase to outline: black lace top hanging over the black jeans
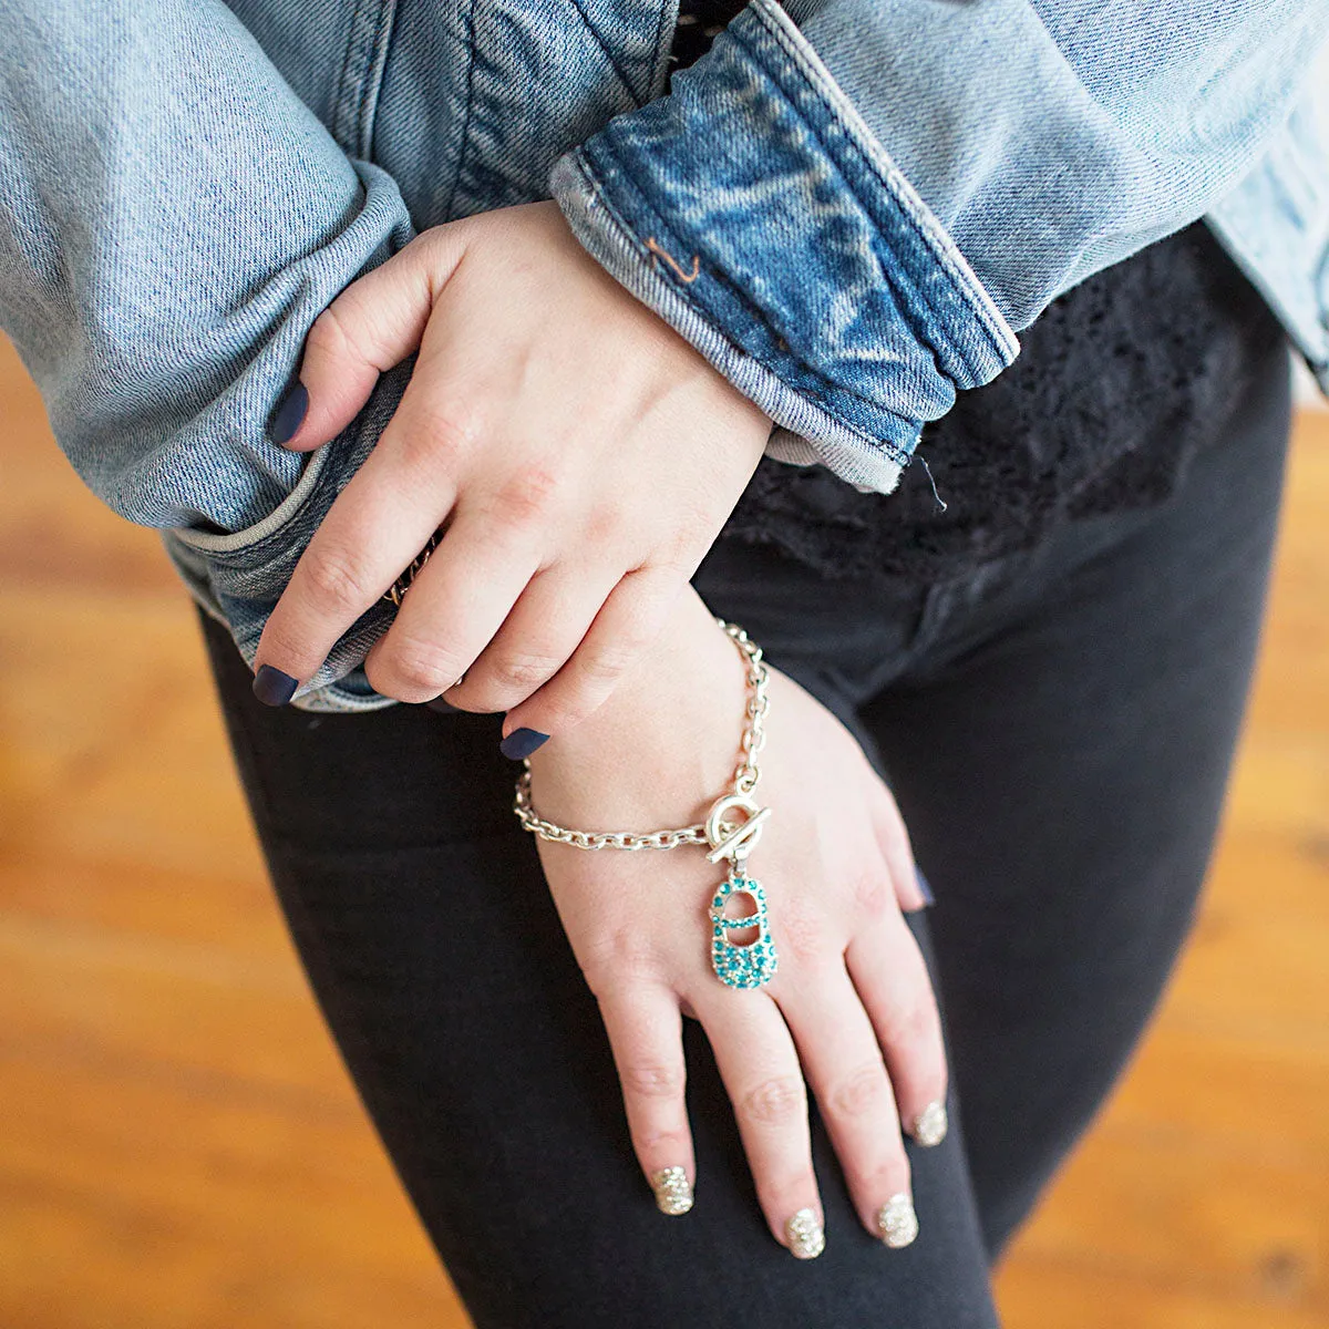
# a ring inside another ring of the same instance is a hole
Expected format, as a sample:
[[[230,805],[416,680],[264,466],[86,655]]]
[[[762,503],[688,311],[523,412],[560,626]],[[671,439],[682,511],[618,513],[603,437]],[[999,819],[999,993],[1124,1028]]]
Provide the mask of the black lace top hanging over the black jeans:
[[[740,5],[682,8],[702,19],[676,29],[679,65]],[[925,425],[894,493],[763,457],[722,537],[776,544],[827,577],[962,575],[1059,522],[1164,501],[1221,427],[1253,352],[1282,338],[1195,222],[1055,299],[1009,368]]]

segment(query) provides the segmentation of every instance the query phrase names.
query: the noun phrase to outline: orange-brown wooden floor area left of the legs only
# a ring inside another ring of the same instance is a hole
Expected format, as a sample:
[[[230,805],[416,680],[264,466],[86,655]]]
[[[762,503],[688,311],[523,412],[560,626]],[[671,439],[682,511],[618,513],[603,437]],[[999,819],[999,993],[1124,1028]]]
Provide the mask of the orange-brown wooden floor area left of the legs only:
[[[0,432],[0,1324],[460,1329],[286,934],[190,601],[3,339]]]

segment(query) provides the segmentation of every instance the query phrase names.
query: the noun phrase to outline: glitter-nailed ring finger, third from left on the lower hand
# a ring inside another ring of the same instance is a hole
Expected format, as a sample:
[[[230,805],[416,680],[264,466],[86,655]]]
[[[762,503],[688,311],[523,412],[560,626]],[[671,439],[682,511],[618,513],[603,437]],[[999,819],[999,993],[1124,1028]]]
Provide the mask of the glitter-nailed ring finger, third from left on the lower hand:
[[[784,989],[780,1010],[793,1034],[808,1083],[844,1171],[863,1225],[908,1245],[913,1192],[900,1116],[877,1034],[844,965],[817,970],[815,981]],[[901,1196],[904,1199],[901,1199]],[[898,1215],[898,1217],[896,1217]]]

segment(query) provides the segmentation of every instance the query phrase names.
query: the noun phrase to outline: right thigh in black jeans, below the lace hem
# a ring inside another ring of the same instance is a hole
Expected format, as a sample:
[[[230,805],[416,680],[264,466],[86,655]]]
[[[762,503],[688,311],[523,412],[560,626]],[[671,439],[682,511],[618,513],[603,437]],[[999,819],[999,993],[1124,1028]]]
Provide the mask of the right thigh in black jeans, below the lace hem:
[[[995,1260],[1083,1134],[1193,920],[1261,626],[1281,340],[1167,505],[929,597],[869,699],[918,861]]]

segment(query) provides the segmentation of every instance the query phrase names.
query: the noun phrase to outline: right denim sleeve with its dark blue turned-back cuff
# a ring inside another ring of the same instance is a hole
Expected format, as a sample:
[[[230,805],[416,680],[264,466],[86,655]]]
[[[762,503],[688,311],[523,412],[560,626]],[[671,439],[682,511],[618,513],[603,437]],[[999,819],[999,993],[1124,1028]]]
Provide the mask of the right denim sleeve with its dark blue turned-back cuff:
[[[1057,295],[1252,170],[1326,31],[1322,0],[750,0],[549,187],[768,455],[889,493]]]

